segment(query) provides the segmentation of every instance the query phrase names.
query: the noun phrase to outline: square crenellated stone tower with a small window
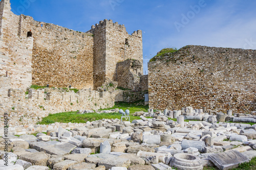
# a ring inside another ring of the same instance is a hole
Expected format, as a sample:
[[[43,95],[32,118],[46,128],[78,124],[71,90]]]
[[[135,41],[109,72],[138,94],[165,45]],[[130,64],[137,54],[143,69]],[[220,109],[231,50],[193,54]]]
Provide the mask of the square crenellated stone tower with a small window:
[[[129,35],[124,25],[104,19],[104,21],[97,23],[95,27],[93,26],[89,32],[95,36],[94,51],[98,53],[95,54],[95,69],[97,71],[95,71],[94,87],[100,86],[105,79],[117,81],[116,65],[118,62],[125,59],[136,59],[141,63],[143,62],[141,30]],[[102,47],[102,44],[104,44],[104,47]],[[98,68],[104,69],[99,71]],[[141,75],[143,75],[143,67]]]

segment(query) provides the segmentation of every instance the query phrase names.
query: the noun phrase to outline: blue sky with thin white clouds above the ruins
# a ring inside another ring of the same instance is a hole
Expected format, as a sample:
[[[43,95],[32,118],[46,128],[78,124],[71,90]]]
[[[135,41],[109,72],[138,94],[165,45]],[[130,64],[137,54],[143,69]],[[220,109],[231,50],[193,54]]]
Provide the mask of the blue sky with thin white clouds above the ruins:
[[[86,32],[103,19],[143,32],[144,70],[165,47],[185,45],[256,50],[256,1],[10,0],[12,11]]]

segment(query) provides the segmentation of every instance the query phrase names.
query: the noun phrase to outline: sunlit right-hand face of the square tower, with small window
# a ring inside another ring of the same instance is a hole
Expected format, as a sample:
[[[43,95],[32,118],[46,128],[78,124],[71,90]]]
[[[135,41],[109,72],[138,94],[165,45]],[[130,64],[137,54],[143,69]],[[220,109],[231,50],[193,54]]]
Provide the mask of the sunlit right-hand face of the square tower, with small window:
[[[142,32],[139,30],[132,35],[126,32],[124,25],[112,20],[106,22],[106,77],[116,80],[116,63],[126,59],[136,59],[143,63]],[[128,43],[125,44],[125,40]],[[143,75],[143,66],[140,74]]]

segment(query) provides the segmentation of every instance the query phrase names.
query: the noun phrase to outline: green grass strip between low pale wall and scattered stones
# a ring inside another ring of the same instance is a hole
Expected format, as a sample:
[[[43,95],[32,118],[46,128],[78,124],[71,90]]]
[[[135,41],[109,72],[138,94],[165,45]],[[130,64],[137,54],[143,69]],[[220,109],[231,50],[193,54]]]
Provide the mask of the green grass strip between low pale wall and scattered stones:
[[[148,105],[137,105],[134,103],[125,103],[125,102],[116,102],[115,106],[108,109],[101,109],[101,110],[110,110],[110,109],[123,109],[124,111],[126,109],[130,110],[130,121],[132,122],[134,119],[140,119],[139,116],[133,116],[132,114],[137,111],[144,111],[147,112]],[[59,123],[86,123],[88,121],[92,122],[94,120],[100,120],[103,118],[108,119],[115,119],[121,118],[120,113],[86,113],[86,114],[76,114],[77,111],[74,112],[62,112],[62,113],[56,113],[56,114],[49,114],[47,117],[42,118],[41,122],[38,122],[40,125],[49,125],[53,124],[55,122]],[[124,119],[123,119],[124,120]]]

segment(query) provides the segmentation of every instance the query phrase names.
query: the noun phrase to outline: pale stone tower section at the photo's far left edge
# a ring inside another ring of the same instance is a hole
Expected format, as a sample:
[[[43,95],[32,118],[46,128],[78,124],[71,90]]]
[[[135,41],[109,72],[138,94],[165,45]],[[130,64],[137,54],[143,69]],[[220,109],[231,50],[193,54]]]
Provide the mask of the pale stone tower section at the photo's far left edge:
[[[0,11],[0,76],[7,71],[12,88],[26,88],[32,82],[33,38],[18,36],[19,16],[11,12],[8,0],[0,2]]]

